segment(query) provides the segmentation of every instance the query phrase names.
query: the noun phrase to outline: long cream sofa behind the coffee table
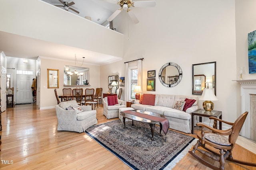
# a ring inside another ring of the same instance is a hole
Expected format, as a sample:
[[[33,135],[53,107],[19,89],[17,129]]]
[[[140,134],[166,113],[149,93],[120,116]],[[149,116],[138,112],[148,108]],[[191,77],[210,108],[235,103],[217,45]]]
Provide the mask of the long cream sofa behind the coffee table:
[[[146,110],[164,115],[169,120],[171,129],[191,133],[191,113],[198,109],[198,97],[170,94],[155,95],[155,106],[139,104],[139,101],[136,100],[131,107],[133,109]],[[186,98],[194,99],[196,102],[186,109],[186,112],[174,109],[178,101],[184,101]],[[194,121],[194,125],[196,125],[196,120]]]

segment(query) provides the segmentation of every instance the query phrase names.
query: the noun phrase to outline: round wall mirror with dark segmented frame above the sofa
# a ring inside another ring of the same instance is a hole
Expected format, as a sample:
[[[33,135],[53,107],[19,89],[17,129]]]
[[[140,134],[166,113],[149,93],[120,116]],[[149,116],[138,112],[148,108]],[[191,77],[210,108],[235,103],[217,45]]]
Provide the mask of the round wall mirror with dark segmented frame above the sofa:
[[[159,80],[166,87],[174,87],[182,78],[182,70],[176,63],[166,63],[159,71]]]

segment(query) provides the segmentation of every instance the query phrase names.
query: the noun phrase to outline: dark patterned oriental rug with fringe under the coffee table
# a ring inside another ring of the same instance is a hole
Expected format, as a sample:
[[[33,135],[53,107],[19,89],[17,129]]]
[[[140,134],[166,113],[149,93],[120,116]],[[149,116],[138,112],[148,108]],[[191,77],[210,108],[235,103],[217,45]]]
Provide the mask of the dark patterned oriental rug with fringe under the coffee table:
[[[154,141],[151,140],[149,124],[120,120],[95,125],[86,133],[134,170],[172,169],[195,145],[196,139],[168,130],[159,135],[155,127]]]

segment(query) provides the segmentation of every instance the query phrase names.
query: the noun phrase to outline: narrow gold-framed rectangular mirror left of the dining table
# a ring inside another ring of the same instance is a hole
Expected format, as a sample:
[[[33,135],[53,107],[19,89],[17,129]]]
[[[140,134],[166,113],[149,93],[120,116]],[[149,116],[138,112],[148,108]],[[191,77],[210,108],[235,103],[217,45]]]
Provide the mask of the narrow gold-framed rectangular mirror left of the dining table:
[[[48,88],[59,88],[59,70],[47,69]]]

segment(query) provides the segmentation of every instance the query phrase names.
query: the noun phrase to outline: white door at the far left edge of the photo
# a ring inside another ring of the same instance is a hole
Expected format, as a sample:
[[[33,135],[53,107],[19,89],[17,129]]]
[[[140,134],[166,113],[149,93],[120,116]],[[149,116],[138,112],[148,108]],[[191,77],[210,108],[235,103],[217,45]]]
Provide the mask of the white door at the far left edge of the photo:
[[[6,110],[6,68],[1,65],[1,111]]]

